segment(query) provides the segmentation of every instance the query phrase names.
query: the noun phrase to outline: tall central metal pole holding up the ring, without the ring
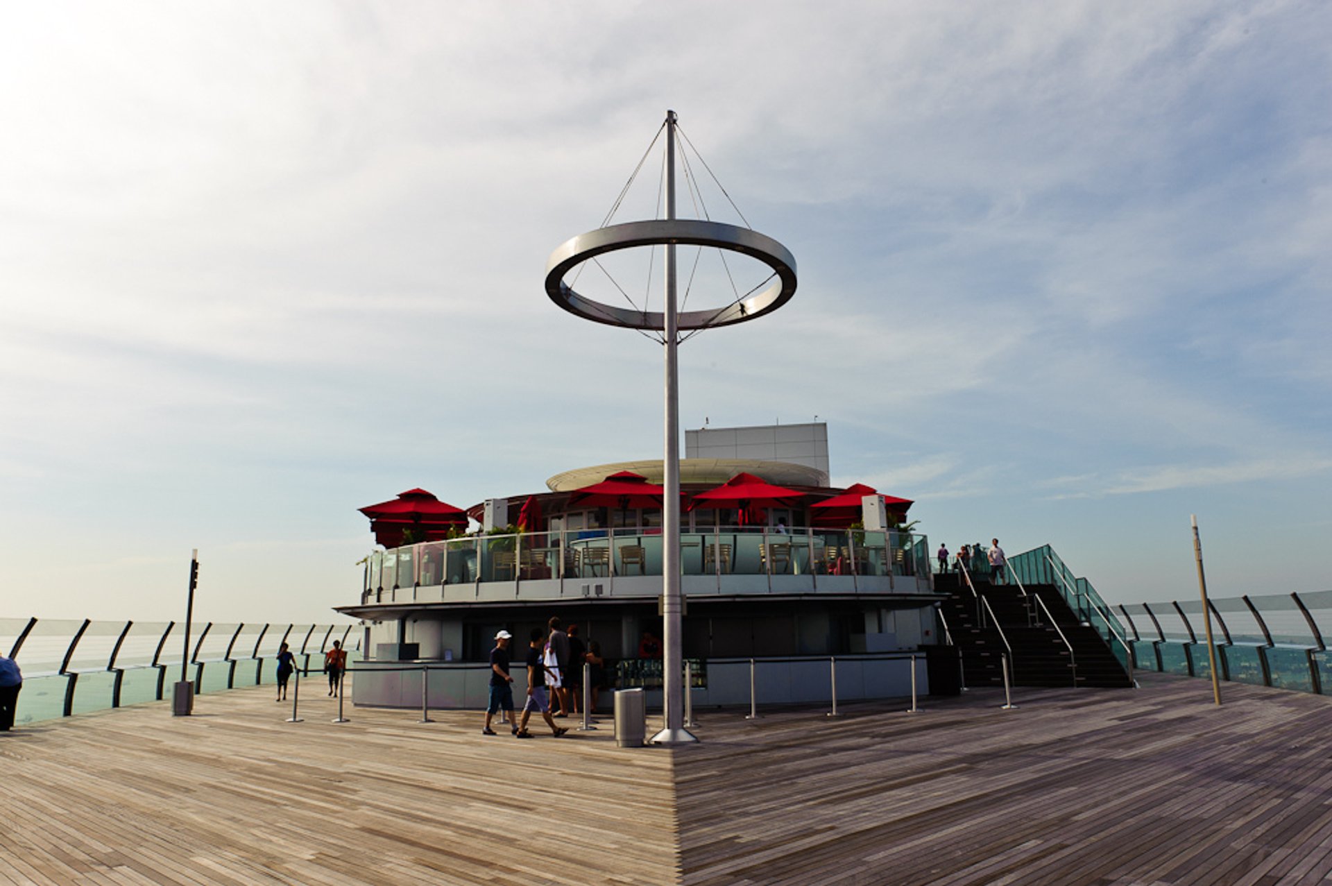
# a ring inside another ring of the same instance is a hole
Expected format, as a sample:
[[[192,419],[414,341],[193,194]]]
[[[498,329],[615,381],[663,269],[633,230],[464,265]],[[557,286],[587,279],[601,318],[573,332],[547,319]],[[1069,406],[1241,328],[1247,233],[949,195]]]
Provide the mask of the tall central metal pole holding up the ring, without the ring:
[[[666,220],[675,219],[675,112],[666,112]],[[698,741],[685,729],[682,717],[683,644],[681,642],[679,598],[679,366],[675,362],[679,317],[675,316],[675,244],[666,244],[666,298],[662,312],[662,337],[666,340],[666,432],[662,501],[662,645],[665,656],[662,686],[662,721],[665,727],[653,735],[655,745],[685,745]]]

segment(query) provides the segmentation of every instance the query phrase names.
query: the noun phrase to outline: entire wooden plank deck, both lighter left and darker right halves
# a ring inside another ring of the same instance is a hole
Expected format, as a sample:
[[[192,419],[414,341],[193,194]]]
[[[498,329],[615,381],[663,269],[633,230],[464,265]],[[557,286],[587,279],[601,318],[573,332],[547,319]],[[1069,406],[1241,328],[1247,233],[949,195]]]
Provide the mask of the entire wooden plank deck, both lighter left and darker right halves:
[[[518,742],[474,713],[269,689],[0,734],[5,883],[1315,883],[1332,699],[1147,674],[709,711],[695,747]]]

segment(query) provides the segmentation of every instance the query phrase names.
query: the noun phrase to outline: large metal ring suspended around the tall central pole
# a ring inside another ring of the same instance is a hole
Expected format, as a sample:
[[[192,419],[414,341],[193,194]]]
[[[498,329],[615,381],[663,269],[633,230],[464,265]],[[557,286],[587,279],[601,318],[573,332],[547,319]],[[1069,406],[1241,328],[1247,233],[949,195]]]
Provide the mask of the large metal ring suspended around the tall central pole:
[[[566,240],[550,253],[550,261],[546,262],[546,294],[565,310],[585,320],[630,329],[665,329],[663,312],[634,310],[587,298],[565,282],[565,274],[579,264],[607,252],[670,244],[715,246],[739,252],[762,261],[777,274],[777,280],[762,292],[725,308],[679,312],[677,325],[682,330],[729,326],[754,320],[777,310],[795,294],[795,257],[787,252],[786,246],[749,228],[719,221],[683,219],[630,221],[609,228],[597,228]]]

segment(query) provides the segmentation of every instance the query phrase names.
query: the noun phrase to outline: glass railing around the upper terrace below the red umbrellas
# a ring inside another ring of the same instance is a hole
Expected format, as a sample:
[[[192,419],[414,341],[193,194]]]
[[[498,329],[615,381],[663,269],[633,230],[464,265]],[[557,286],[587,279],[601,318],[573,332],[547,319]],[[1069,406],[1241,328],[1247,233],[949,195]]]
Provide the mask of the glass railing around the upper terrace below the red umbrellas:
[[[922,534],[718,526],[681,533],[686,576],[928,576]],[[469,536],[377,550],[365,569],[365,602],[400,588],[546,578],[661,576],[659,529],[578,529]]]

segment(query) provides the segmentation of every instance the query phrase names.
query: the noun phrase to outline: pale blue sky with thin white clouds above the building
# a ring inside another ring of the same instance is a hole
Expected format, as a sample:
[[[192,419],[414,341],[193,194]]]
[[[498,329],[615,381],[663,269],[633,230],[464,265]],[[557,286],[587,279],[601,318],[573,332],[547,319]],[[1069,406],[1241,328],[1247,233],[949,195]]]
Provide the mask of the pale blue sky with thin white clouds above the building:
[[[0,617],[178,620],[197,548],[198,616],[328,621],[357,508],[659,457],[661,346],[542,282],[667,108],[799,272],[681,346],[682,429],[817,416],[1112,604],[1197,593],[1189,514],[1212,596],[1332,584],[1327,4],[3,16]]]

